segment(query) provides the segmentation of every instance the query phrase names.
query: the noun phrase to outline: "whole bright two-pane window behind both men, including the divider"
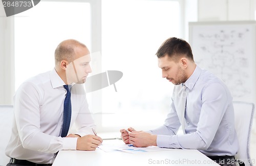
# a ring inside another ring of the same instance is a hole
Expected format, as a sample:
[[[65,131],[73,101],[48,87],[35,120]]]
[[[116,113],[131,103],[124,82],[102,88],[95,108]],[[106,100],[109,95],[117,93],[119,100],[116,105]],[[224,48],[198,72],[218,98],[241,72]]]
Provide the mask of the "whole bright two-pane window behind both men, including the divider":
[[[165,39],[184,35],[181,6],[178,0],[41,1],[15,16],[15,89],[52,69],[57,44],[74,38],[91,51],[91,76],[123,73],[117,92],[112,85],[87,94],[98,131],[157,127],[174,85],[162,78],[155,53]]]

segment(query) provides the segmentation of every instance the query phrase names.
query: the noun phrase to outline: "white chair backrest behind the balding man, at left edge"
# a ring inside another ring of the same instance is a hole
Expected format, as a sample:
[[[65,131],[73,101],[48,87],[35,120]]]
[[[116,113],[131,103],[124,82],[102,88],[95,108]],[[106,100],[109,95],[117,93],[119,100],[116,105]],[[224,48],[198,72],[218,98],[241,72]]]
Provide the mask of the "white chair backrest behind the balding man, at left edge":
[[[10,158],[5,155],[5,149],[11,137],[13,106],[0,105],[0,165],[6,165]]]

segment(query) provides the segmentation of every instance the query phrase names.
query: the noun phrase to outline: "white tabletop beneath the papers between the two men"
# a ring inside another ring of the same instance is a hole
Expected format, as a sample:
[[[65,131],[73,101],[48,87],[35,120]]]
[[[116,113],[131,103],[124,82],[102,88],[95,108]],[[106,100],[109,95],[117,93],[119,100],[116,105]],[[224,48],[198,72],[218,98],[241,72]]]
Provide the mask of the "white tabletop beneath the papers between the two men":
[[[124,144],[122,140],[104,140],[104,144]],[[63,165],[218,165],[198,150],[168,149],[157,152],[104,152],[95,151],[59,151],[53,166]]]

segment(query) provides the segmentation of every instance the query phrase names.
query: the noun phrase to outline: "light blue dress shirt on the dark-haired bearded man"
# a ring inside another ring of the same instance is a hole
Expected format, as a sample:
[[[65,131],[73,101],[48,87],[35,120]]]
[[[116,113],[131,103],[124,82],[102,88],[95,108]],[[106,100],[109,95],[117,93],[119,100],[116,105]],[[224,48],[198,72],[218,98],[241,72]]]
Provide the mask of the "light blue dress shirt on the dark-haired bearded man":
[[[181,123],[173,94],[170,112],[163,126],[150,130],[157,134],[157,146],[198,149],[207,156],[235,155],[238,138],[234,129],[232,97],[226,85],[207,70],[196,67],[184,83],[187,87],[185,134],[176,135]],[[176,85],[183,86],[182,84]]]

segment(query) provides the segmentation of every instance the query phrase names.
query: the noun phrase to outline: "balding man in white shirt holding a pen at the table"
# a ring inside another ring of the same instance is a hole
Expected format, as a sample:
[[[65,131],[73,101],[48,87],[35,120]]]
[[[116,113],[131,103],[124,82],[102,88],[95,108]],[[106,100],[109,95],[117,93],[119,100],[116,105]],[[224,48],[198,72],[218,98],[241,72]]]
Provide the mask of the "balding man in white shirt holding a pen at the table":
[[[28,79],[14,94],[12,135],[6,148],[7,165],[51,165],[59,150],[95,150],[102,143],[81,83],[91,73],[86,45],[69,39],[55,50],[53,70]],[[63,107],[71,92],[71,122],[76,133],[63,136]],[[62,136],[61,136],[62,135]]]

